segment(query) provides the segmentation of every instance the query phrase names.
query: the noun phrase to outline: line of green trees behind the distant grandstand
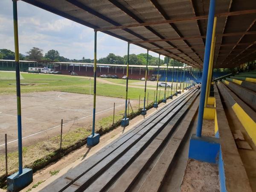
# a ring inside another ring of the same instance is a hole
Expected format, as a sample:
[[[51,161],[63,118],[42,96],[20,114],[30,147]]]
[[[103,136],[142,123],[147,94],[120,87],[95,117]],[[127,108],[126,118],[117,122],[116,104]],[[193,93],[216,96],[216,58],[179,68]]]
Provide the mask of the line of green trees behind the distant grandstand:
[[[69,59],[61,56],[57,50],[51,49],[43,54],[43,50],[39,49],[38,47],[33,47],[28,52],[26,52],[27,55],[20,54],[20,60],[48,60],[48,61],[59,61],[59,62],[82,62],[82,63],[93,63],[94,60],[90,58],[84,58],[81,59]],[[9,59],[14,60],[15,59],[15,52],[12,52],[9,49],[0,49],[0,59]],[[146,65],[147,62],[147,54],[146,53],[140,53],[138,55],[136,54],[130,54],[129,55],[129,64],[133,65]],[[158,65],[159,58],[154,57],[152,55],[148,55],[148,65]],[[127,63],[127,55],[119,56],[115,55],[113,53],[109,53],[108,56],[99,58],[97,60],[97,63],[100,64],[126,64]],[[167,64],[167,57],[164,59],[160,59],[160,65],[166,65]],[[175,64],[175,66],[178,65],[178,62],[174,62],[172,58],[169,58],[169,65]]]

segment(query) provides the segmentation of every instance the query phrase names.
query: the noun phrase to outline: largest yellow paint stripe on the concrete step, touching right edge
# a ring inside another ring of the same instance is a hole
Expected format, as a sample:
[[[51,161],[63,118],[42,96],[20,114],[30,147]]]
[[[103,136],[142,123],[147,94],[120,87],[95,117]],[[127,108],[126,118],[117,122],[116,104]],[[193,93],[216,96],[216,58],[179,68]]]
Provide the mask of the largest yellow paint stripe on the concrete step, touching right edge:
[[[236,113],[236,116],[244,126],[250,138],[253,140],[253,143],[256,145],[256,122],[254,122],[253,119],[251,119],[237,103],[232,106],[232,109]]]

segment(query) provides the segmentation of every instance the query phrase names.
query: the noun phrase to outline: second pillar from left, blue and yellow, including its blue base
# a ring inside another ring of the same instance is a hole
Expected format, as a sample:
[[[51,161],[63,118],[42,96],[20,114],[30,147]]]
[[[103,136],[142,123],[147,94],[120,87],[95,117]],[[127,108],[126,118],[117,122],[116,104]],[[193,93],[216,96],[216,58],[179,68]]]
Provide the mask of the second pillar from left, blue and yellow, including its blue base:
[[[93,127],[92,134],[87,137],[87,145],[94,146],[99,143],[99,134],[95,133],[96,115],[96,71],[97,71],[97,32],[94,31],[94,67],[93,67]]]

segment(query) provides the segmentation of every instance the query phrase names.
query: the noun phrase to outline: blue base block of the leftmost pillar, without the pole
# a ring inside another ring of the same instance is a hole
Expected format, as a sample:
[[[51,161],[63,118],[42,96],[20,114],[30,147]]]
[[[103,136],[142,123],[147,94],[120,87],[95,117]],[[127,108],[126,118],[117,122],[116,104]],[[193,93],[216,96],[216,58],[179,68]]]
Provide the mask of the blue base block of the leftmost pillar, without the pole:
[[[24,168],[21,175],[19,175],[19,172],[16,172],[7,177],[7,189],[10,192],[17,192],[28,186],[32,181],[32,169]]]

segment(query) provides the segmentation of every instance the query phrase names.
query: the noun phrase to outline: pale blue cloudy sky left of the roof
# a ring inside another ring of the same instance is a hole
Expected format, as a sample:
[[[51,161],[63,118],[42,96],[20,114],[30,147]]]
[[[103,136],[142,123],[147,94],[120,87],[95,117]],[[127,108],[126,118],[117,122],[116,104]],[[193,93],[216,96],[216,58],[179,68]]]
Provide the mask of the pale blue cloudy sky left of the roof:
[[[44,54],[55,49],[66,58],[93,59],[93,29],[20,0],[17,1],[17,10],[20,53],[26,55],[29,49],[38,47]],[[0,49],[14,51],[12,14],[12,0],[0,0]],[[97,34],[97,59],[106,57],[110,52],[120,56],[127,54],[127,42],[102,32]],[[146,53],[146,49],[131,44],[132,53]],[[158,57],[157,53],[149,54]]]

